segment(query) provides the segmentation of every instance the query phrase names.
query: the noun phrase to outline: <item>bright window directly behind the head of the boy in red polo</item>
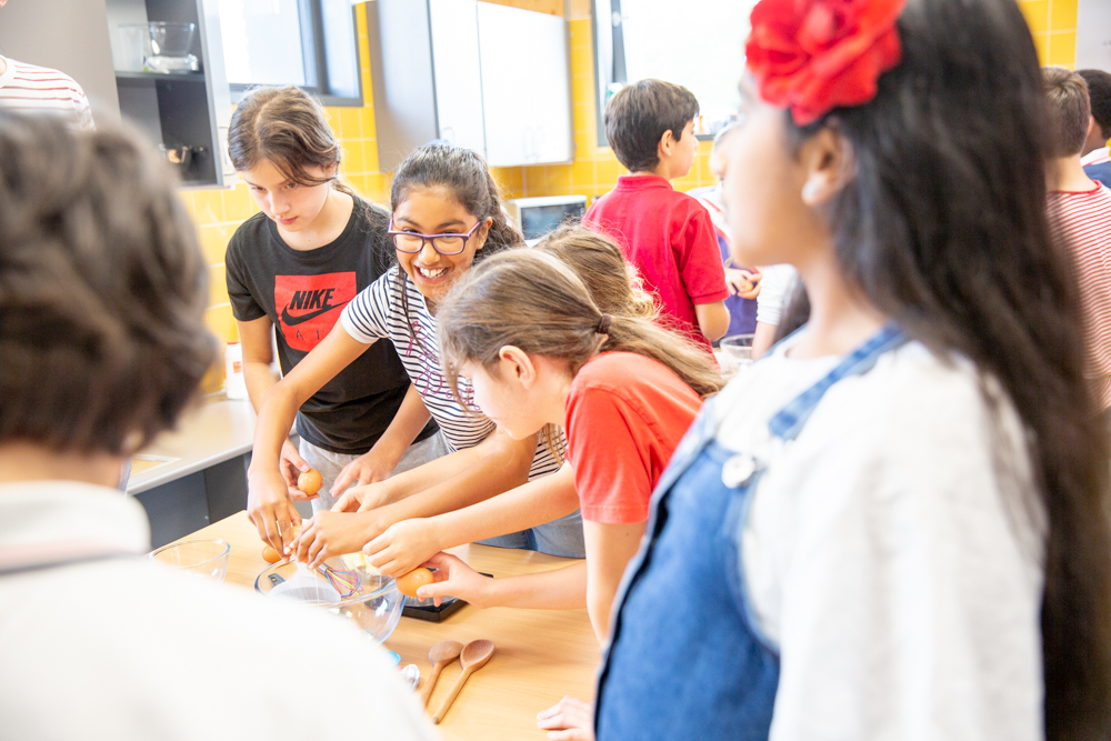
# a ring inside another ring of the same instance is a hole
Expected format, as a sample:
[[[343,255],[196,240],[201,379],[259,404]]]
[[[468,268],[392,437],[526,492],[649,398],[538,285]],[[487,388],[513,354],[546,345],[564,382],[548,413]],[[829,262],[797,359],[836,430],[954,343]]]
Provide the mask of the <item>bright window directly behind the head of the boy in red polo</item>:
[[[755,0],[594,0],[594,70],[598,140],[605,143],[602,111],[629,82],[658,78],[694,93],[701,109],[695,131],[709,137],[737,112],[744,70],[744,40]]]

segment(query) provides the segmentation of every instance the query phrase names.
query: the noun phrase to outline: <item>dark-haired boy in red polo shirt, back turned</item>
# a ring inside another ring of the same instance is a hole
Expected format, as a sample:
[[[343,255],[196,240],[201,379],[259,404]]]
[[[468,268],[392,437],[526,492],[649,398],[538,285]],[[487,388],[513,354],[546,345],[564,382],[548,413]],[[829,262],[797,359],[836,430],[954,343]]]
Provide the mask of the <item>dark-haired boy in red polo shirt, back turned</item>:
[[[662,80],[622,88],[605,107],[605,138],[630,174],[595,200],[583,224],[613,239],[657,294],[661,316],[711,349],[729,329],[725,271],[705,208],[670,180],[698,150],[698,100]]]

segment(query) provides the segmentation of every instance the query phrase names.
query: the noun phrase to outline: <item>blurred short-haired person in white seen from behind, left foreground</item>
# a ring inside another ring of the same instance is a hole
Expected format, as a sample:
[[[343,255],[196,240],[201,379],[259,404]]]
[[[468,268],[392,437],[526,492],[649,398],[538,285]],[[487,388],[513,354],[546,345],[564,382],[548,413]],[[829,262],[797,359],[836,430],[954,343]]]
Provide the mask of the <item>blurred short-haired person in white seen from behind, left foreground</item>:
[[[147,562],[120,465],[217,357],[208,267],[160,159],[0,112],[0,735],[431,741],[350,621]]]

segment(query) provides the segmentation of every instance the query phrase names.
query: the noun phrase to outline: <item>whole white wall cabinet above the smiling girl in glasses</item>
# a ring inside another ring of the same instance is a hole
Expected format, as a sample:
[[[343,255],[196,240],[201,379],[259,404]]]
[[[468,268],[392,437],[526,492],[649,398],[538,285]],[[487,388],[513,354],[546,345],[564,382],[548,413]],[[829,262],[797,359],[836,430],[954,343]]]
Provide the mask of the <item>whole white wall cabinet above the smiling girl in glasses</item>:
[[[573,159],[563,18],[476,0],[376,0],[367,21],[383,170],[437,138],[498,167]]]

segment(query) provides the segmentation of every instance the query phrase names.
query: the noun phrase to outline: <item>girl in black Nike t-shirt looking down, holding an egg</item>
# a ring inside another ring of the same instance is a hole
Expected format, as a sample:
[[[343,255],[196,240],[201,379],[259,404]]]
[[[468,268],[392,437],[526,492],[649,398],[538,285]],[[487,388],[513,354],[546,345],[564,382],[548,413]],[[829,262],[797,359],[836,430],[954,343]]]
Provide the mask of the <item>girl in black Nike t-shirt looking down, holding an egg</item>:
[[[339,180],[340,148],[322,108],[301,89],[248,93],[236,108],[228,146],[262,209],[236,231],[224,260],[247,390],[258,410],[278,382],[271,338],[288,373],[389,268],[393,250],[389,214]],[[394,349],[379,343],[302,404],[300,443],[286,440],[281,452],[290,495],[307,498],[297,477],[316,468],[324,485],[313,509],[327,509],[351,483],[380,481],[446,452],[410,385]]]

